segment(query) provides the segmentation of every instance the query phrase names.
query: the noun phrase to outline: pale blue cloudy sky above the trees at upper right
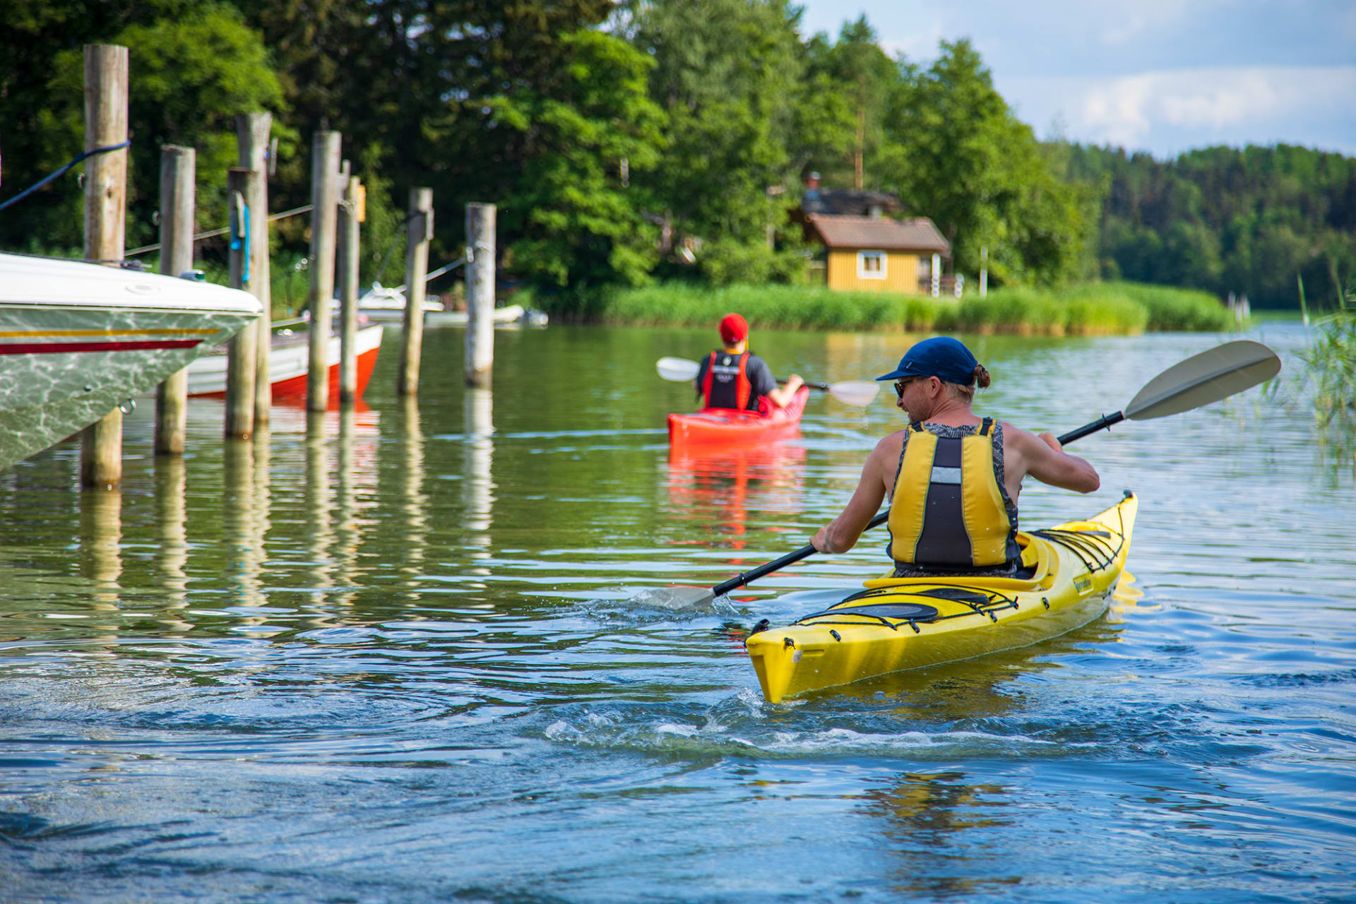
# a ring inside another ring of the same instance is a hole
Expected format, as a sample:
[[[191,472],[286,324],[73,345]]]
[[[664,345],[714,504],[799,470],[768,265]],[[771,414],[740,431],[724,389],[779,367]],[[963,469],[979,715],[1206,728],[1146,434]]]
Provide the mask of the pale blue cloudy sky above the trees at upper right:
[[[970,38],[1040,138],[1158,159],[1296,144],[1356,156],[1356,0],[792,0],[804,35],[865,14],[891,56]]]

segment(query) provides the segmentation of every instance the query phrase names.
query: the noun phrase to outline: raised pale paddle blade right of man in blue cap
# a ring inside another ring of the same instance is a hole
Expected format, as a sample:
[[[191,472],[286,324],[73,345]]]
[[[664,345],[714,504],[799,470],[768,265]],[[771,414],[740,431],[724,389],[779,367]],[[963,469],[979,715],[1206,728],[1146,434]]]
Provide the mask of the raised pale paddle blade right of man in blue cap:
[[[1125,405],[1130,420],[1166,417],[1227,398],[1280,373],[1280,358],[1241,339],[1192,355],[1150,379]]]

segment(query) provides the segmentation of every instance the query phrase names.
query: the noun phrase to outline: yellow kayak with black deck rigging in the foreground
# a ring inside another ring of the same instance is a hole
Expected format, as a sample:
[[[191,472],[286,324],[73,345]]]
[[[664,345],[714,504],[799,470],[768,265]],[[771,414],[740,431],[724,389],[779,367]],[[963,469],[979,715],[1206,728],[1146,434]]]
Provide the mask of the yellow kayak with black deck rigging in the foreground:
[[[866,590],[746,645],[763,697],[780,702],[875,675],[1026,646],[1106,611],[1139,499],[1088,520],[1018,533],[1016,577],[879,577]]]

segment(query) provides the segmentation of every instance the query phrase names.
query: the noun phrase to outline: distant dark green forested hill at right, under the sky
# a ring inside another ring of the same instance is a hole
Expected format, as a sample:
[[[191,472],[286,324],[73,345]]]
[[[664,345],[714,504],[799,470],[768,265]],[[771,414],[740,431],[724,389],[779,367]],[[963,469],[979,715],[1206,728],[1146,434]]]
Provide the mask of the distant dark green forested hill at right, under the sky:
[[[1356,276],[1356,160],[1279,145],[1204,148],[1158,161],[1067,148],[1069,178],[1100,186],[1098,270],[1248,294],[1269,308],[1337,302]]]

